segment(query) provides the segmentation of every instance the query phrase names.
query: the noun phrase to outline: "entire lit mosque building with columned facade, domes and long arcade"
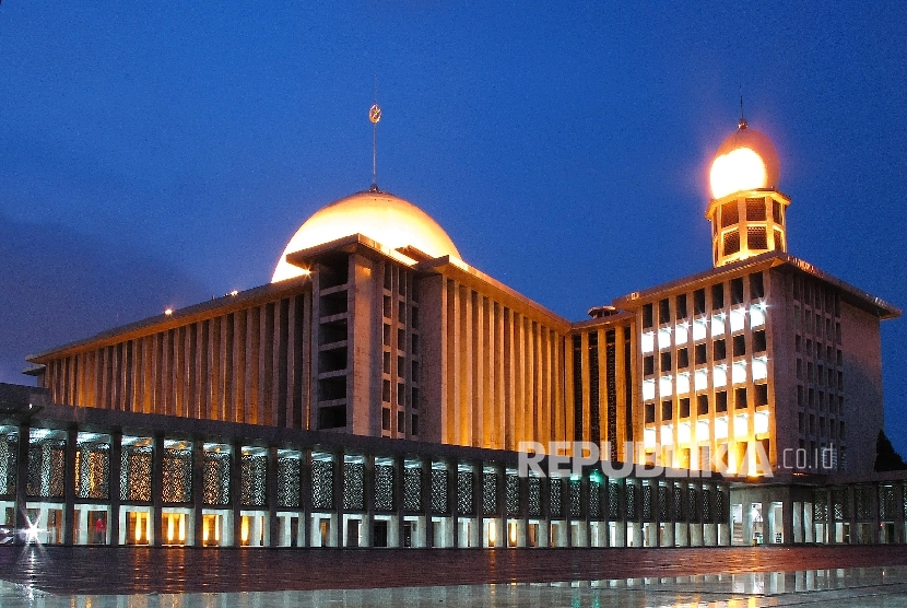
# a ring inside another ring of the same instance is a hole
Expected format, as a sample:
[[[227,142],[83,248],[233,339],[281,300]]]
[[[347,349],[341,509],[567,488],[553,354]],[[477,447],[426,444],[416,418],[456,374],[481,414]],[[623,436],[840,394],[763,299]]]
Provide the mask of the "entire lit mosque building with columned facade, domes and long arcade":
[[[900,311],[787,253],[779,175],[741,119],[710,171],[714,267],[578,321],[402,198],[332,202],[269,284],[30,356],[38,388],[0,410],[7,523],[67,543],[904,542],[907,486],[872,472]],[[516,475],[553,442],[669,472]]]

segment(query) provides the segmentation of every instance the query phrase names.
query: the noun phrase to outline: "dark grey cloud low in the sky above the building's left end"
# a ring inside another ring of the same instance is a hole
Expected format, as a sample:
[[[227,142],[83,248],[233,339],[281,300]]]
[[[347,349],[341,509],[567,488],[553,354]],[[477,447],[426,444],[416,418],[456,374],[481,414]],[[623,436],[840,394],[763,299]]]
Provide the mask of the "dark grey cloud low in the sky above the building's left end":
[[[0,382],[30,384],[25,355],[205,300],[202,282],[54,224],[0,217]]]

